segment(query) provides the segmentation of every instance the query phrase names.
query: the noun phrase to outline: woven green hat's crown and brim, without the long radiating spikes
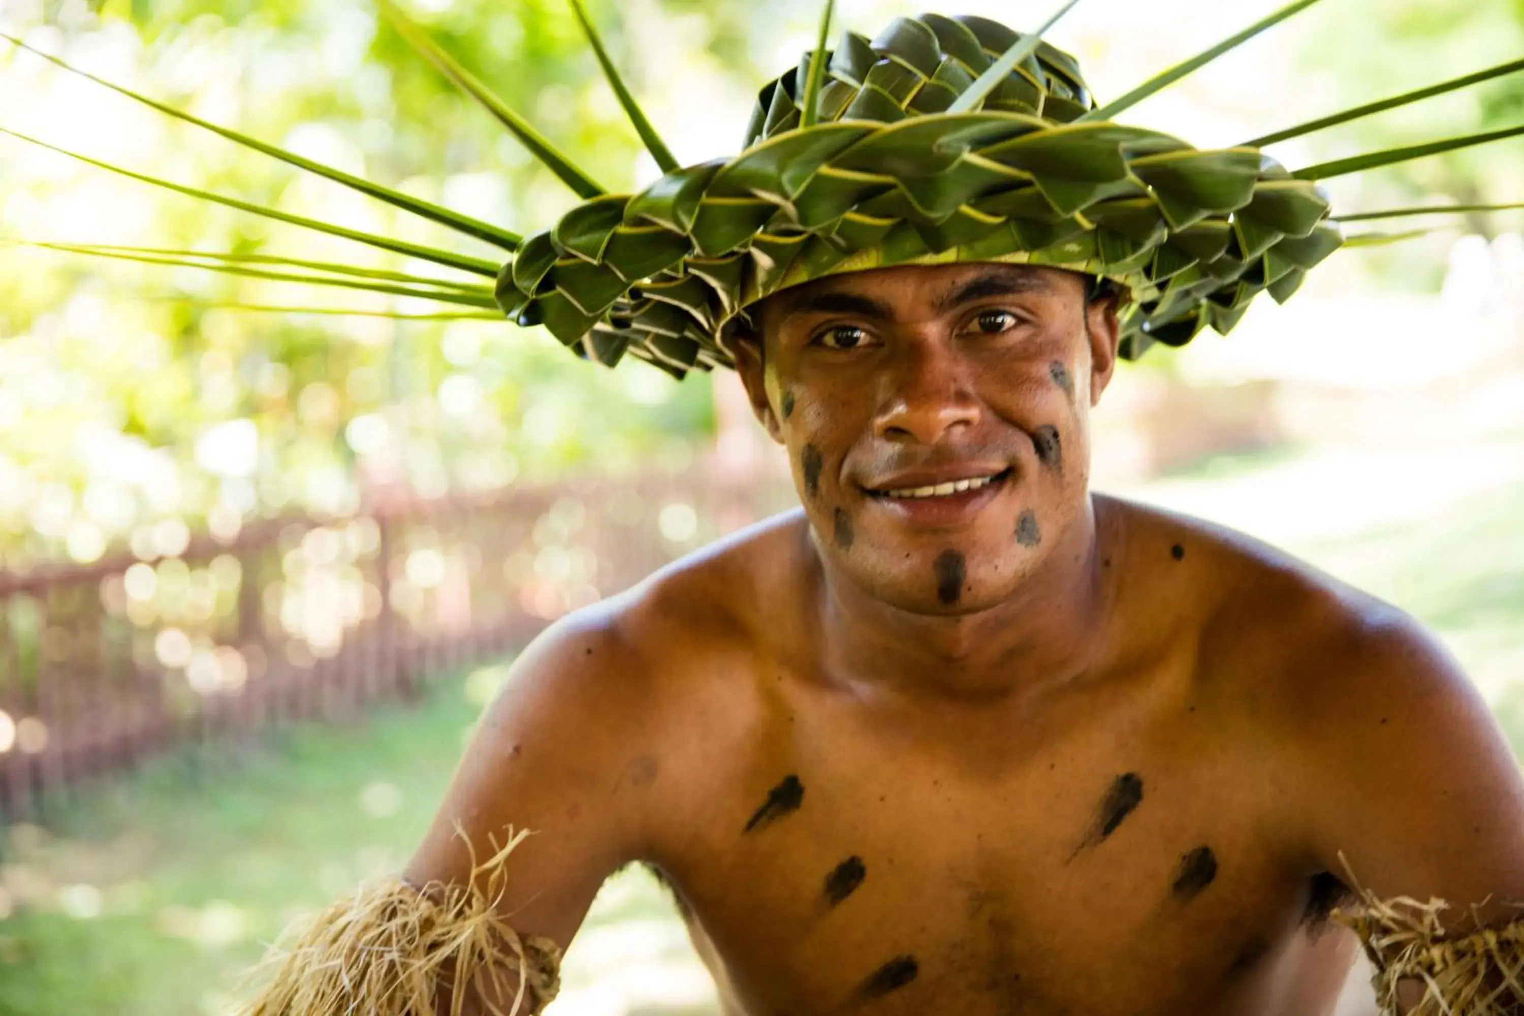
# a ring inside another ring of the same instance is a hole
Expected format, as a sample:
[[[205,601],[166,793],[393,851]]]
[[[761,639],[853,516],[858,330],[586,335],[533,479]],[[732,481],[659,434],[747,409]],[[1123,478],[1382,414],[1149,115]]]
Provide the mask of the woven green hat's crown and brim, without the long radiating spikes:
[[[1125,356],[1227,334],[1343,244],[1329,203],[1254,148],[1198,151],[1113,122],[1077,62],[1032,47],[980,105],[948,108],[1023,37],[985,18],[901,18],[829,55],[803,126],[809,56],[760,93],[748,146],[602,195],[530,236],[498,306],[613,366],[632,347],[681,376],[732,366],[751,303],[829,274],[1017,262],[1132,292]]]

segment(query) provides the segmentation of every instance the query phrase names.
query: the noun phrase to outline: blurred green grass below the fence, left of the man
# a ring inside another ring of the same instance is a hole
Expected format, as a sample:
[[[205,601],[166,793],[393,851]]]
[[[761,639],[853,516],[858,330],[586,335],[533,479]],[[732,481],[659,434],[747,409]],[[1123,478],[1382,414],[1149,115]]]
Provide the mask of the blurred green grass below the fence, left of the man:
[[[3,1016],[203,1016],[285,923],[407,861],[443,794],[494,669],[349,727],[187,751],[9,830]],[[642,871],[591,923],[666,917]]]

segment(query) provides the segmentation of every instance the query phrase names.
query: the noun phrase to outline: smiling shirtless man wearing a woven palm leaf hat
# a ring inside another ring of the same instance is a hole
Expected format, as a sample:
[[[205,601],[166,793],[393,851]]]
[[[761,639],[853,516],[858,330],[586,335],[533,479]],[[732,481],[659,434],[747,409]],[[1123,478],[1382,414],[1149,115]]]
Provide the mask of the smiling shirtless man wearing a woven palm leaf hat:
[[[497,286],[584,356],[735,366],[802,510],[535,640],[402,879],[251,1011],[538,1010],[640,861],[732,1014],[1320,1016],[1361,943],[1387,1011],[1518,1013],[1524,778],[1454,661],[1090,489],[1119,356],[1343,242],[1326,168],[1117,125],[981,18],[823,67]]]

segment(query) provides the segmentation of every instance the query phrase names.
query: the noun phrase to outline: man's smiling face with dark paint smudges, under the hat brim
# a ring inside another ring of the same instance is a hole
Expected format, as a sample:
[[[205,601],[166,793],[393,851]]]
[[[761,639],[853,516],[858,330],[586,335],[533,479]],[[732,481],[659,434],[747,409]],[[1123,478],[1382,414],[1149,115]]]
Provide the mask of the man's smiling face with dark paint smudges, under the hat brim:
[[[1068,271],[936,265],[753,308],[741,378],[860,588],[919,614],[988,609],[1084,518],[1090,407],[1117,346],[1116,302],[1085,292]]]

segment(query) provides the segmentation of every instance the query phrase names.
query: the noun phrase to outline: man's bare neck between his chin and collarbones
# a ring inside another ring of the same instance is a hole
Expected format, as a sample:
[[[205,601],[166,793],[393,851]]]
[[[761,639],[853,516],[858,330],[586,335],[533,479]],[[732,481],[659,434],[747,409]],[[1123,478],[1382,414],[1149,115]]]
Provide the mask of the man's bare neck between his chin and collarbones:
[[[826,670],[853,685],[928,704],[1026,698],[1071,681],[1105,653],[1116,513],[1085,509],[1042,565],[994,608],[914,614],[884,603],[821,561]]]

